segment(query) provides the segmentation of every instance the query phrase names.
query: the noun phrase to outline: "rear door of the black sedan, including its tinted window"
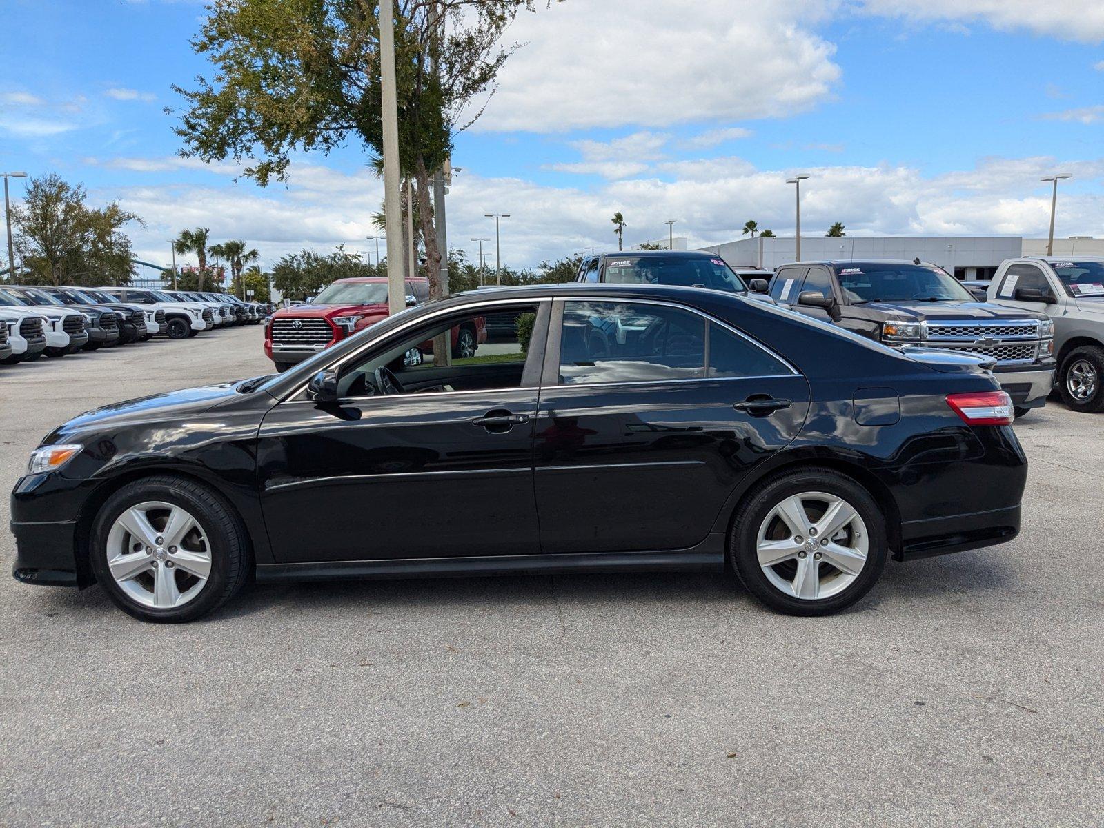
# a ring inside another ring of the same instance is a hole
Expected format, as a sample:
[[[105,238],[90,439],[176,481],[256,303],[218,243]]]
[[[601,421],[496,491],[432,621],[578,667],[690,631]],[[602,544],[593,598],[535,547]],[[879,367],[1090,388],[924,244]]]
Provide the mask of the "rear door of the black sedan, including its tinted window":
[[[558,301],[534,485],[544,553],[687,549],[797,436],[804,376],[734,328],[661,301]]]

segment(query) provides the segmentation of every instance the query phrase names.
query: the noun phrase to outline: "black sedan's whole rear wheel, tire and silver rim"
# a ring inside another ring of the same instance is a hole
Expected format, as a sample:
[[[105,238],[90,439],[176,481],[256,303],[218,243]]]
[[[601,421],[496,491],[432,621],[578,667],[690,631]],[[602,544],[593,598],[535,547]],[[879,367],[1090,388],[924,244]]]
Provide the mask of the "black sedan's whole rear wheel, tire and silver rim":
[[[866,595],[885,565],[885,516],[827,468],[768,480],[737,510],[732,565],[749,592],[788,615],[829,615]]]

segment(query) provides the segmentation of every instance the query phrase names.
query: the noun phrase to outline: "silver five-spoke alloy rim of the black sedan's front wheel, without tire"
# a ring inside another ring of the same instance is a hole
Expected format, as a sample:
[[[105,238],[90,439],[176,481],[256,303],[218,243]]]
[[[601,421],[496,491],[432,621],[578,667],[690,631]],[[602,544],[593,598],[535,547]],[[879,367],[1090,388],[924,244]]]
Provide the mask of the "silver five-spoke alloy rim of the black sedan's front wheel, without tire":
[[[171,609],[203,590],[211,576],[211,544],[188,511],[149,500],[131,506],[112,524],[107,567],[132,601]]]

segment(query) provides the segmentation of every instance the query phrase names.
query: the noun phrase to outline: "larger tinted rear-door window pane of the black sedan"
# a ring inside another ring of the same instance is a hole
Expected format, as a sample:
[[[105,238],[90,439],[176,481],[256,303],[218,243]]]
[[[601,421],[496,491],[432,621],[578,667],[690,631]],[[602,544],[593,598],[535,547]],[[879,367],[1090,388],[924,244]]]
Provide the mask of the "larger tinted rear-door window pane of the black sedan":
[[[659,305],[567,301],[560,335],[560,382],[690,380],[704,375],[705,325]]]

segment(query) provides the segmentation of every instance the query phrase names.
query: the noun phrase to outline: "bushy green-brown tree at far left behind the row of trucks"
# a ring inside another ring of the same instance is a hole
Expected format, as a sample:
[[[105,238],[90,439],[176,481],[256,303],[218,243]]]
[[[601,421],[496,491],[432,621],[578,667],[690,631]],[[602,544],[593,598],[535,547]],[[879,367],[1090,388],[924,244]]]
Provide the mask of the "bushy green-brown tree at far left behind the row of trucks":
[[[89,208],[81,184],[56,173],[32,178],[21,204],[12,206],[14,245],[28,273],[20,278],[43,285],[126,285],[130,282],[130,238],[123,227],[141,223],[112,202]]]

